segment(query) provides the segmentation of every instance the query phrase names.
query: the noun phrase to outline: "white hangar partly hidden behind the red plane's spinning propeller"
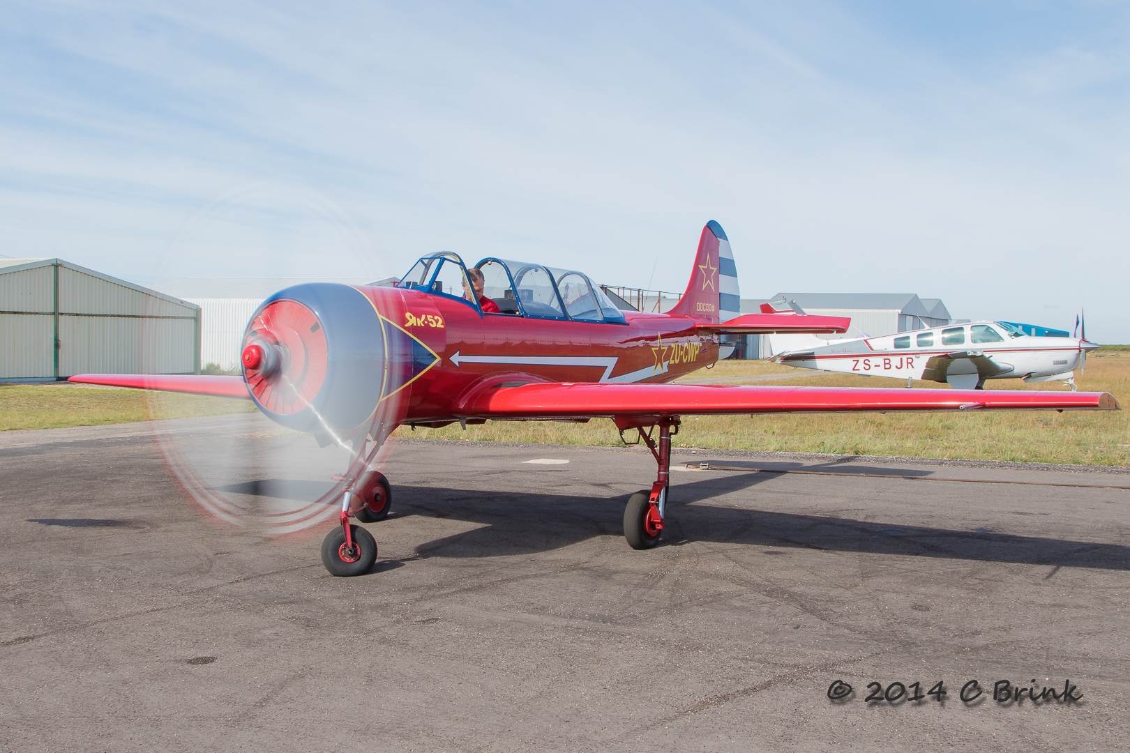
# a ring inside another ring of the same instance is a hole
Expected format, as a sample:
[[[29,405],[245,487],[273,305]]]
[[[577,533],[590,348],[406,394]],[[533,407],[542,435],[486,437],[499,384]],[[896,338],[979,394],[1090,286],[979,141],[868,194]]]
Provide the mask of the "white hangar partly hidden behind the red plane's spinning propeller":
[[[385,284],[395,278],[180,278],[153,287],[200,307],[200,362],[224,371],[240,366],[243,332],[268,296],[301,282]]]

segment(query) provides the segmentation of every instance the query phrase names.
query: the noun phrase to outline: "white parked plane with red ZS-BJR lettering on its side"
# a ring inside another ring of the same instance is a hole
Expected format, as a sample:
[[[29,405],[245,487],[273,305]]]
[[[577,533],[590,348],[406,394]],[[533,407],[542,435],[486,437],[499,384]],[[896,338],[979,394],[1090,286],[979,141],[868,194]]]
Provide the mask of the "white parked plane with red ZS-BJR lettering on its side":
[[[1066,333],[1064,333],[1066,334]],[[799,338],[805,348],[797,350]],[[1098,345],[1083,338],[1033,336],[1007,322],[971,322],[899,332],[881,338],[834,340],[814,335],[771,336],[768,360],[805,369],[947,382],[954,389],[982,389],[986,379],[1067,382],[1086,368]],[[777,345],[791,348],[777,353]]]

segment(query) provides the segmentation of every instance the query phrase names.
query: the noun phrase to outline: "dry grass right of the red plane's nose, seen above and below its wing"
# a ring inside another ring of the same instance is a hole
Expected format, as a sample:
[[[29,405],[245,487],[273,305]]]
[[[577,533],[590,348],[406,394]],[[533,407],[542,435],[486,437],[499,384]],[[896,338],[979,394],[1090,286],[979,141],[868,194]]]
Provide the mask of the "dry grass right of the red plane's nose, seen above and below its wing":
[[[727,384],[820,385],[836,387],[905,387],[902,379],[850,374],[797,377],[799,369],[765,361],[728,361],[696,371],[687,382],[724,379]],[[803,374],[803,373],[801,373]],[[792,377],[772,379],[773,375]],[[749,378],[756,377],[756,378]],[[766,379],[766,377],[770,377]],[[1087,359],[1087,374],[1076,379],[1083,391],[1110,392],[1130,408],[1130,348],[1104,348]],[[1061,383],[1024,384],[1020,379],[989,383],[1002,389],[1055,389]],[[916,388],[948,388],[916,382]],[[1130,411],[971,412],[971,413],[814,413],[792,415],[687,417],[677,447],[755,449],[791,453],[893,455],[1000,459],[1084,465],[1130,462]],[[612,422],[588,424],[550,421],[490,421],[461,430],[397,430],[399,437],[476,439],[564,445],[618,445]]]

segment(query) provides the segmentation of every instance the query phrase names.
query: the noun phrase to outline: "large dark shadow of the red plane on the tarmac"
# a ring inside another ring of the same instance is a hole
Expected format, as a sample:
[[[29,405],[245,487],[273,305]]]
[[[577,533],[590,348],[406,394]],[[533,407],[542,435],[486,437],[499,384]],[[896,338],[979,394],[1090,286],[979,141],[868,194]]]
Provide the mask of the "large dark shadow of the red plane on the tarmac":
[[[806,467],[812,467],[811,465]],[[878,472],[878,470],[877,470]],[[660,545],[695,541],[931,557],[984,562],[1130,570],[1130,546],[991,531],[931,528],[845,517],[759,511],[706,502],[780,478],[719,475],[672,487]],[[429,542],[423,557],[502,557],[559,549],[597,535],[623,534],[626,496],[609,499],[524,491],[473,491],[397,485],[393,513],[450,517],[483,527]],[[696,504],[697,502],[697,504]],[[375,533],[380,539],[380,528]],[[626,546],[626,544],[625,544]]]

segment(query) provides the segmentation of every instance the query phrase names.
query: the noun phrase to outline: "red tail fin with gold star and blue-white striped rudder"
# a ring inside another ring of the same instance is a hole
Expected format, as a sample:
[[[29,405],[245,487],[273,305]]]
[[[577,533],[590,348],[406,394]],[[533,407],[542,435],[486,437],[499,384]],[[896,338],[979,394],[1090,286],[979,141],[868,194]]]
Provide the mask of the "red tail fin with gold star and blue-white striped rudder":
[[[718,324],[741,313],[738,270],[733,264],[730,240],[722,226],[711,220],[698,239],[698,254],[690,270],[690,282],[679,303],[668,312],[676,316]]]

